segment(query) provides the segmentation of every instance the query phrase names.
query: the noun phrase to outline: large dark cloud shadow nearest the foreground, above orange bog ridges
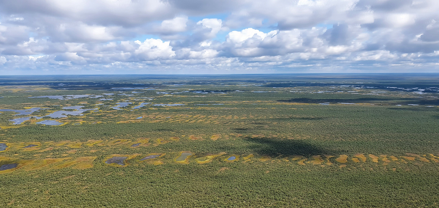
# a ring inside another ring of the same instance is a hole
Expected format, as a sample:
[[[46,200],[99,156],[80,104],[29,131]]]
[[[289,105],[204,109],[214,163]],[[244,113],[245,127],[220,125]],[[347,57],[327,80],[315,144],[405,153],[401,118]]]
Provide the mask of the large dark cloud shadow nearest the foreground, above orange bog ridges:
[[[303,140],[281,140],[273,138],[248,138],[246,139],[254,152],[260,155],[278,156],[278,155],[321,155],[331,154],[332,152],[318,147],[314,144]]]

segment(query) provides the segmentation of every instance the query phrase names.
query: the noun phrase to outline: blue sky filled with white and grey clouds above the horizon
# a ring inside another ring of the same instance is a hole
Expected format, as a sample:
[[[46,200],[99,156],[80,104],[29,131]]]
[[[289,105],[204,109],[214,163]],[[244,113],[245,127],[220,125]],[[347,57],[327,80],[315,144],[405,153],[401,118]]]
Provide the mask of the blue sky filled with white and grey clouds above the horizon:
[[[0,75],[439,72],[439,0],[0,0]]]

